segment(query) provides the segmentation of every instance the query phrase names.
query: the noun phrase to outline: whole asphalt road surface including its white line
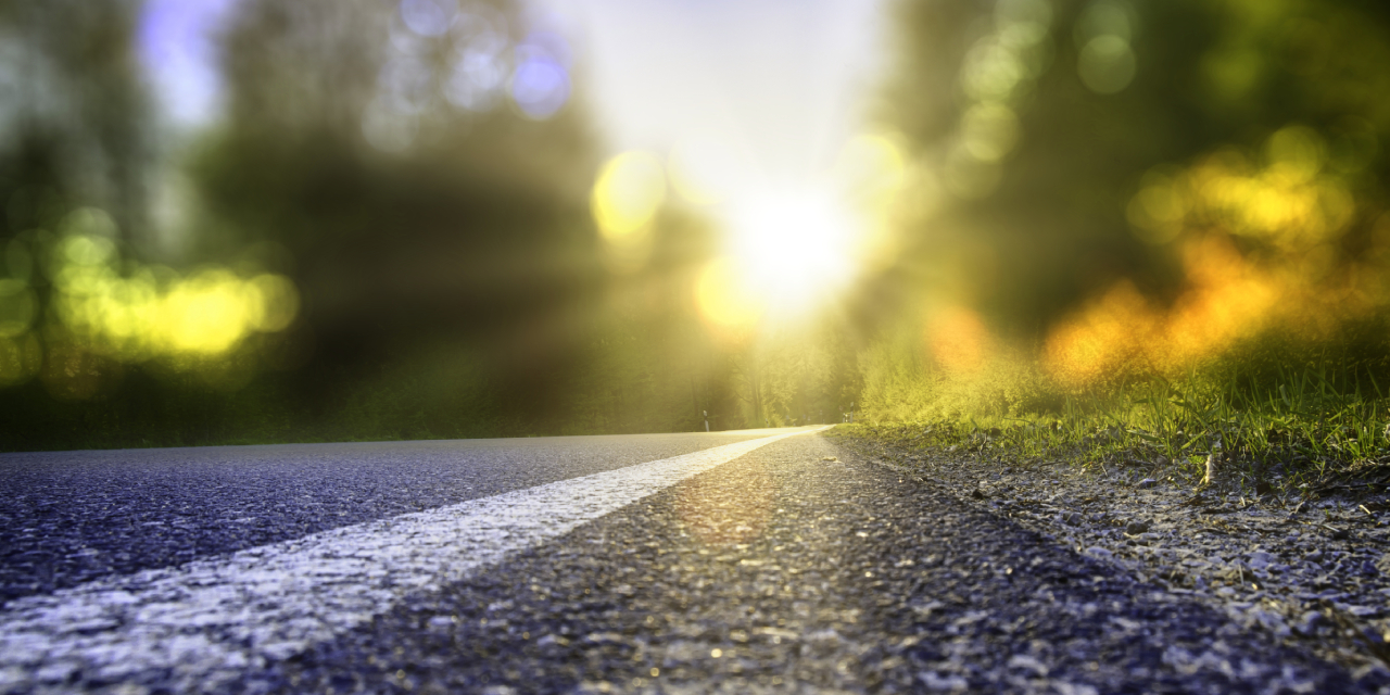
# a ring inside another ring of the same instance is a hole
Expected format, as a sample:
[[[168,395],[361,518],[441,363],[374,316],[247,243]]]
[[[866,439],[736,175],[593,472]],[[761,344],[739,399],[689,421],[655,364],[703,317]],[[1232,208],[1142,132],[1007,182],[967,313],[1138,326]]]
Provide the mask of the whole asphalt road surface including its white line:
[[[810,430],[0,457],[0,692],[1357,692]]]

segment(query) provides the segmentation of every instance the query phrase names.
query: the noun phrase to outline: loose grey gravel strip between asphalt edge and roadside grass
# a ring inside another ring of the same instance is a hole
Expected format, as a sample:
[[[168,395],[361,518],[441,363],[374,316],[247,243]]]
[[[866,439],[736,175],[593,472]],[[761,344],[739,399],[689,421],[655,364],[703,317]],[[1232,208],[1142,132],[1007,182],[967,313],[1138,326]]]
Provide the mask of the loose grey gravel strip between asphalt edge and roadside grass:
[[[834,436],[866,460],[1006,518],[1244,630],[1390,682],[1390,495],[1194,489],[1155,470],[1088,474]],[[1150,477],[1152,475],[1152,477]]]

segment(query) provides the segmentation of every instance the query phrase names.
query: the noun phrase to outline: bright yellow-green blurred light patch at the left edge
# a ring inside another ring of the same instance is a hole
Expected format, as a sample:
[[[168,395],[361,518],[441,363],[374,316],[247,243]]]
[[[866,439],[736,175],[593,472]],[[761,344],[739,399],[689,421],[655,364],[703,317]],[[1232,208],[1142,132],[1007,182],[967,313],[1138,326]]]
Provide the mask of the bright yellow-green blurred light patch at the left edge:
[[[0,386],[42,375],[60,398],[92,398],[121,363],[204,364],[254,334],[285,331],[299,314],[299,291],[284,275],[221,265],[181,275],[124,259],[114,222],[97,208],[68,214],[57,229],[10,243],[42,259],[53,291],[40,314],[28,279],[0,279]]]

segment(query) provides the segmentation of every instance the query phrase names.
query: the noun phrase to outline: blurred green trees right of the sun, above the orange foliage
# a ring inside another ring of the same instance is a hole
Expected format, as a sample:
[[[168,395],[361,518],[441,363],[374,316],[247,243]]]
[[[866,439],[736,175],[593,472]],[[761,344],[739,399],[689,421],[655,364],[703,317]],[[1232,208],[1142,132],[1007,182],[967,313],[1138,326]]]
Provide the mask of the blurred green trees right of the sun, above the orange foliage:
[[[1011,338],[1041,341],[1120,278],[1177,296],[1179,254],[1137,228],[1131,202],[1222,147],[1261,157],[1270,133],[1301,124],[1332,157],[1359,152],[1330,164],[1366,203],[1348,240],[1369,235],[1384,199],[1380,4],[906,0],[895,19],[880,113],[919,185],[902,272],[880,286],[930,278],[938,302],[973,306]]]

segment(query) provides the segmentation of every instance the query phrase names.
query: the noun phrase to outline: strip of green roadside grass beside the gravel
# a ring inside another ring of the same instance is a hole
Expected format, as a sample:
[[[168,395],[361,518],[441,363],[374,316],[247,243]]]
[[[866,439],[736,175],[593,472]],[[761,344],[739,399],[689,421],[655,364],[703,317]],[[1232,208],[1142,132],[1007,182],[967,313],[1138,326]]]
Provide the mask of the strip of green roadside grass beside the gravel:
[[[1215,457],[1216,482],[1241,493],[1326,492],[1390,478],[1390,384],[1375,367],[1276,364],[1258,378],[1238,368],[1191,371],[1059,395],[1041,413],[981,407],[909,421],[870,416],[869,424],[841,425],[834,435],[1001,466],[1062,460],[1193,486],[1202,485]]]

